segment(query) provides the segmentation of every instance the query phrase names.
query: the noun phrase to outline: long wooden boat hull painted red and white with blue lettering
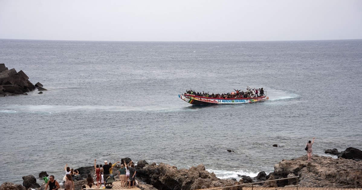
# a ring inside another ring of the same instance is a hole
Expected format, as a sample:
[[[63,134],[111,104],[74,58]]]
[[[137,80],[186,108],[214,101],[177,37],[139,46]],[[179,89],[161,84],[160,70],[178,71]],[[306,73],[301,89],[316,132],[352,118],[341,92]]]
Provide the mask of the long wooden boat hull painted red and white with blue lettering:
[[[193,105],[253,103],[269,100],[269,97],[266,96],[255,98],[210,98],[192,94],[178,94],[178,97]]]

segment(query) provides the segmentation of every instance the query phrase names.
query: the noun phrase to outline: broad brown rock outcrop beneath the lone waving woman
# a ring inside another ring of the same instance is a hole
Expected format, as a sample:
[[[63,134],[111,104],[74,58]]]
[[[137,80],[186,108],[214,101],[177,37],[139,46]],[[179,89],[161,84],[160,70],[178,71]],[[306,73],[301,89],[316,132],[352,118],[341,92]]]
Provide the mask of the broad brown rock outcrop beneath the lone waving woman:
[[[362,187],[362,162],[350,159],[313,155],[312,161],[307,161],[307,156],[304,155],[274,165],[275,178],[286,178],[290,174],[300,176],[298,184],[303,187]],[[288,180],[278,181],[277,184],[290,185]]]

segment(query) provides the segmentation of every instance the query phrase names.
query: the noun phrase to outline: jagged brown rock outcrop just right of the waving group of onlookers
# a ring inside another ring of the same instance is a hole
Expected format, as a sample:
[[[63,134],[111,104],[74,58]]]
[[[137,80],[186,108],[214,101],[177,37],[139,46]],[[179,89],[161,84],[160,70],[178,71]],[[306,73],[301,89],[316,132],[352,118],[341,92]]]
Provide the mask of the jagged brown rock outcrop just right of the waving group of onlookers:
[[[225,187],[239,185],[243,182],[220,180],[214,173],[205,170],[204,165],[190,169],[177,169],[176,166],[156,163],[145,165],[138,169],[137,175],[143,177],[147,184],[157,189],[194,190],[211,187]],[[241,190],[242,187],[231,187],[231,190]]]

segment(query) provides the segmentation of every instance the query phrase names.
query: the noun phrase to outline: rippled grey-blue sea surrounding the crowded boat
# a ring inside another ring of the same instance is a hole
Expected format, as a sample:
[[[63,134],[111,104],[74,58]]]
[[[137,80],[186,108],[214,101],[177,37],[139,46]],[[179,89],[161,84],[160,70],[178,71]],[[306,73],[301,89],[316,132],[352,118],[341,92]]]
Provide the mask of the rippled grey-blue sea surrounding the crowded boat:
[[[362,149],[361,52],[362,40],[0,39],[0,63],[48,89],[0,97],[0,184],[125,157],[253,177],[305,155],[312,137],[313,154]],[[178,98],[247,86],[264,87],[269,101],[199,107]]]

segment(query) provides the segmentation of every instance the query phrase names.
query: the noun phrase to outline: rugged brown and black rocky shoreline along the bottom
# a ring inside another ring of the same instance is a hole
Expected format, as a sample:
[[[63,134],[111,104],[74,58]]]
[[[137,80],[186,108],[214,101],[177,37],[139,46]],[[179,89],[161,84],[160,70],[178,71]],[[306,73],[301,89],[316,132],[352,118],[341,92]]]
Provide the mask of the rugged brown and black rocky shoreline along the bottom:
[[[138,187],[142,190],[196,190],[251,182],[260,182],[258,185],[253,185],[254,187],[300,185],[301,187],[362,188],[362,160],[359,157],[362,156],[362,151],[349,147],[341,153],[338,154],[339,158],[337,159],[313,155],[313,160],[307,161],[307,156],[304,155],[291,160],[282,160],[274,165],[274,172],[268,175],[265,172],[260,172],[256,177],[240,176],[239,181],[217,178],[213,172],[206,171],[203,164],[189,169],[177,169],[176,166],[164,163],[157,165],[156,163],[149,164],[146,160],[140,160],[135,168],[139,180]],[[342,157],[344,153],[348,155],[349,159]],[[129,162],[131,159],[123,158],[121,160],[122,162],[123,160]],[[119,180],[117,172],[119,167],[116,165],[113,170],[116,181]],[[81,167],[76,170],[80,172],[80,176],[76,177],[75,190],[80,190],[81,186],[86,184],[87,174],[94,173],[94,167]],[[39,173],[39,178],[42,178],[44,174],[46,172]],[[299,176],[298,180],[289,179],[262,183],[267,180],[295,176]],[[5,182],[0,186],[0,190],[29,190],[29,188],[44,190],[45,184],[41,186],[37,184],[33,175],[24,176],[23,180],[23,185]],[[242,190],[242,187],[232,187],[231,189]]]

